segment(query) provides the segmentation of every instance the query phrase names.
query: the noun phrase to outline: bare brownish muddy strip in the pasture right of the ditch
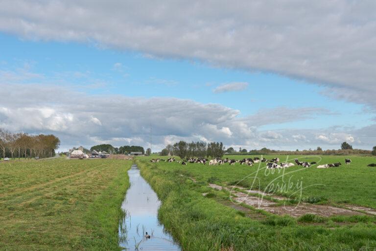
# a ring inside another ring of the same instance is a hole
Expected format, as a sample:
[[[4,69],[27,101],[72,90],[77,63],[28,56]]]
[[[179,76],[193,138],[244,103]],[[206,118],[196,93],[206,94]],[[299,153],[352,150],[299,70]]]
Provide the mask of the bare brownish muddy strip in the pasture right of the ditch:
[[[363,215],[363,213],[356,212],[353,210],[364,210],[364,208],[363,209],[354,208],[350,210],[346,208],[334,207],[334,206],[329,206],[329,205],[312,205],[312,204],[307,204],[307,203],[300,203],[298,205],[278,206],[277,203],[275,202],[265,200],[261,195],[252,196],[243,192],[231,190],[228,187],[220,186],[217,184],[209,184],[209,186],[217,190],[223,189],[223,190],[231,192],[230,199],[235,204],[238,203],[238,204],[250,205],[255,208],[262,209],[269,213],[278,214],[278,215],[287,214],[292,217],[300,217],[305,214],[315,214],[315,215],[320,215],[324,217],[330,217],[334,215]],[[240,187],[237,187],[237,188],[240,188]],[[268,194],[268,196],[270,196],[270,194]],[[274,198],[273,196],[270,196],[270,197]],[[276,196],[276,197],[279,197],[279,196]],[[280,198],[284,199],[284,197],[280,197]]]

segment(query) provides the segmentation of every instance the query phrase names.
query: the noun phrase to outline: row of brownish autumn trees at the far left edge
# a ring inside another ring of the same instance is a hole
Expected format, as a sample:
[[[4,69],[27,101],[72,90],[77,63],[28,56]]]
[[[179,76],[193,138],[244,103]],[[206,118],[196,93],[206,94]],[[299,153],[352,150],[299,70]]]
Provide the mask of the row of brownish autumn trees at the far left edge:
[[[53,157],[59,146],[60,139],[54,135],[11,133],[0,128],[0,153],[2,158]]]

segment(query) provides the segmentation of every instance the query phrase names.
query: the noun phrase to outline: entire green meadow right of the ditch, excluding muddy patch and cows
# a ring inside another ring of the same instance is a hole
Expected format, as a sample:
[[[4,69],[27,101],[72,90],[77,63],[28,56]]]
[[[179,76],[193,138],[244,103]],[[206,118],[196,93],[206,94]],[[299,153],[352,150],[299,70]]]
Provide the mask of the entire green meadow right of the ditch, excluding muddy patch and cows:
[[[254,158],[255,156],[250,156]],[[258,156],[259,157],[259,156]],[[267,159],[286,156],[264,156]],[[367,167],[374,157],[290,156],[319,164],[342,162],[339,168],[318,169],[293,166],[266,170],[260,166],[235,164],[209,166],[179,163],[151,163],[153,157],[136,162],[142,176],[152,185],[163,202],[159,218],[181,243],[185,251],[249,250],[375,250],[376,217],[359,210],[357,215],[322,217],[305,214],[292,217],[265,212],[248,205],[235,205],[229,193],[208,186],[239,185],[287,196],[287,205],[305,203],[376,209],[376,168]],[[167,157],[161,157],[167,159]],[[242,159],[246,156],[229,156]],[[352,159],[346,166],[345,158]],[[272,172],[274,171],[274,172]],[[255,178],[256,177],[256,178]],[[252,186],[257,181],[257,187]],[[277,184],[302,184],[303,189],[275,189]],[[274,184],[273,189],[269,190]]]

